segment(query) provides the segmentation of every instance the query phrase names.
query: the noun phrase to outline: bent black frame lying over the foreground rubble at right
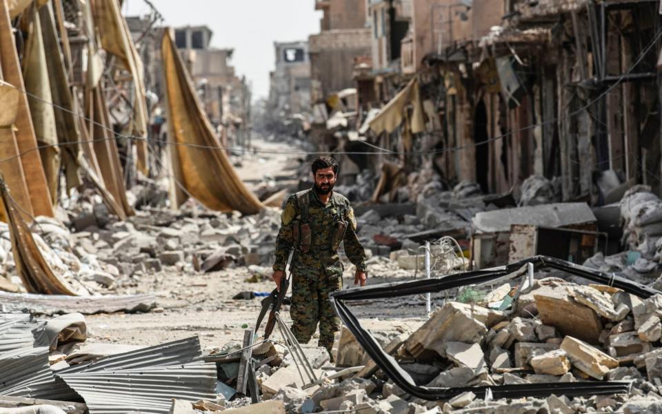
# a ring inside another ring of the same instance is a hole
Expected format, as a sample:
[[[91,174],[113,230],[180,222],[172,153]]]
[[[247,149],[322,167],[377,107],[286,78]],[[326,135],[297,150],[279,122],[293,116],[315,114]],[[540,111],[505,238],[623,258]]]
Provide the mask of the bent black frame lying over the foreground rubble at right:
[[[571,275],[589,279],[592,282],[608,284],[623,289],[626,293],[647,298],[660,293],[658,290],[632,282],[624,277],[603,273],[599,270],[586,268],[553,257],[536,256],[521,260],[507,266],[500,266],[489,270],[477,270],[466,273],[457,273],[435,279],[414,280],[412,282],[398,282],[381,284],[362,288],[339,290],[331,294],[331,302],[336,309],[343,324],[352,332],[366,353],[381,368],[381,370],[403,391],[423,398],[424,400],[448,400],[466,391],[472,391],[479,397],[484,397],[488,390],[494,398],[514,397],[542,397],[556,395],[610,395],[626,393],[630,389],[630,382],[572,382],[572,383],[545,383],[545,384],[509,384],[501,386],[465,386],[457,388],[441,388],[418,386],[412,377],[405,372],[391,355],[388,355],[376,339],[359,323],[359,319],[352,314],[345,302],[381,299],[385,297],[401,297],[421,293],[438,293],[443,290],[481,284],[507,277],[515,273],[525,264],[532,263],[536,268],[555,268]]]

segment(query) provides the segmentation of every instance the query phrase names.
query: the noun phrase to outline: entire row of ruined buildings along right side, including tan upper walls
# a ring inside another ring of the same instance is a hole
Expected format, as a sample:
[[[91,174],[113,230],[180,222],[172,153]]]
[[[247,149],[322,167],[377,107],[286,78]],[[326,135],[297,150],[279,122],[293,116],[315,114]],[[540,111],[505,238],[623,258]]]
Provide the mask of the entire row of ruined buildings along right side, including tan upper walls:
[[[386,161],[406,172],[431,165],[448,187],[474,181],[483,193],[556,177],[561,199],[594,204],[636,183],[659,193],[658,6],[370,1],[371,52],[352,64],[358,114],[347,128],[382,150],[354,163],[377,175]],[[407,113],[370,128],[370,111],[406,86],[417,89],[399,97]]]

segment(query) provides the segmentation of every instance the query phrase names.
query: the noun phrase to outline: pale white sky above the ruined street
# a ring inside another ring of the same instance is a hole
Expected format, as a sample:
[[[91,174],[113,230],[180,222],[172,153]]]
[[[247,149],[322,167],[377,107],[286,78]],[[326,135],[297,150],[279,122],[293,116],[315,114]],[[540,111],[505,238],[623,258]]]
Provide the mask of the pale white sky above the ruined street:
[[[234,48],[237,75],[252,83],[253,98],[269,94],[274,41],[308,40],[319,32],[314,0],[152,0],[166,26],[209,26],[212,47]],[[146,14],[143,0],[124,0],[126,16]]]

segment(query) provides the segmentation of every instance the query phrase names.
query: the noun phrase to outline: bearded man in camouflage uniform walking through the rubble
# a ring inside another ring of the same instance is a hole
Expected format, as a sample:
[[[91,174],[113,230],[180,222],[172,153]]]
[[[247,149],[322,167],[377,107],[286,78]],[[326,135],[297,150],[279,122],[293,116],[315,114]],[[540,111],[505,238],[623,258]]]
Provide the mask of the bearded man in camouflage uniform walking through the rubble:
[[[277,286],[285,275],[292,254],[292,333],[301,344],[308,343],[319,322],[319,346],[331,352],[340,319],[329,300],[343,287],[343,264],[338,248],[357,266],[354,285],[365,286],[365,250],[357,237],[357,220],[350,201],[332,191],[338,164],[331,157],[313,161],[314,187],[292,195],[281,215],[276,239],[273,279]]]

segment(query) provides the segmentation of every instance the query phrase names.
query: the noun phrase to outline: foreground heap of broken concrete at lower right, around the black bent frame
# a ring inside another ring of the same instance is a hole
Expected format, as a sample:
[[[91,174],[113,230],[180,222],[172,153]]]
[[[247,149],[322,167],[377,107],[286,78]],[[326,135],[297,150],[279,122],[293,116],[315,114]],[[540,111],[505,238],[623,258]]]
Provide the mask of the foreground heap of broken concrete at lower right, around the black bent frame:
[[[334,364],[323,348],[304,348],[316,375],[325,377],[314,383],[302,380],[288,353],[272,344],[255,346],[262,397],[282,401],[285,411],[274,412],[287,413],[636,413],[660,406],[662,293],[641,299],[556,276],[538,273],[532,285],[524,276],[472,303],[445,302],[423,323],[365,321],[418,386],[475,391],[440,401],[412,397],[343,328]],[[237,348],[227,346],[221,355]],[[232,364],[237,362],[219,364],[219,375],[234,386]],[[590,382],[597,395],[554,395],[552,384]],[[627,382],[630,391],[602,395],[602,382]],[[544,397],[526,396],[523,389],[508,398],[484,393],[485,387],[496,393],[511,384],[547,384],[549,391]]]

